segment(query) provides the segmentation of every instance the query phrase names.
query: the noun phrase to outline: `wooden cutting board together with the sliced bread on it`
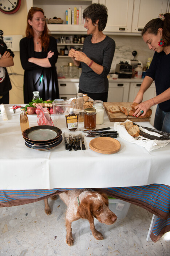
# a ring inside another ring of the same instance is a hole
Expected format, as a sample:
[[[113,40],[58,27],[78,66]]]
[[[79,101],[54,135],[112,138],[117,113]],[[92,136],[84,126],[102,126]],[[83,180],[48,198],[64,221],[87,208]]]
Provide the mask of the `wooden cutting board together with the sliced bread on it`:
[[[136,122],[149,122],[152,114],[152,110],[147,110],[144,117],[133,116],[135,110],[134,107],[138,105],[133,102],[104,102],[103,106],[106,110],[107,116],[110,122],[122,122],[125,120],[136,121]]]

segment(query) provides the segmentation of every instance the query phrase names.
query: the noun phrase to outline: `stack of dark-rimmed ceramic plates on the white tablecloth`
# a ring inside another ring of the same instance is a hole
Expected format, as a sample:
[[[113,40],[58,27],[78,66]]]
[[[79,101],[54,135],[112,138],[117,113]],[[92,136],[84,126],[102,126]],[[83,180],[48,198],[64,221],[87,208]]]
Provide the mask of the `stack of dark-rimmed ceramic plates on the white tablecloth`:
[[[51,150],[62,140],[62,131],[51,125],[33,126],[23,131],[25,145],[36,150]]]

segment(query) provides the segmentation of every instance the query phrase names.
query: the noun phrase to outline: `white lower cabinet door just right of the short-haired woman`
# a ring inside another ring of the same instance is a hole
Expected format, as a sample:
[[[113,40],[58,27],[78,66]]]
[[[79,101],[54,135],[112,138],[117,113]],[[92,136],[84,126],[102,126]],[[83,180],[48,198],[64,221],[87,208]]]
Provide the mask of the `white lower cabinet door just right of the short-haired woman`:
[[[109,82],[108,86],[108,102],[127,102],[129,95],[130,83],[125,82]]]

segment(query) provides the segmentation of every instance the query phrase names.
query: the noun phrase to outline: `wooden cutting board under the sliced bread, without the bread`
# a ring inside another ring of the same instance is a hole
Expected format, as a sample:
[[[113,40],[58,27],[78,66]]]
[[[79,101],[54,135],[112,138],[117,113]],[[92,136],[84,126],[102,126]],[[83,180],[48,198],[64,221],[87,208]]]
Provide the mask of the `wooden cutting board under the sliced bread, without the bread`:
[[[107,107],[111,105],[118,105],[118,106],[129,106],[133,102],[103,102],[104,109],[106,110],[107,116],[110,120],[110,122],[124,122],[126,119],[133,121],[133,122],[150,122],[150,117],[147,118],[138,118],[134,116],[126,116],[122,112],[120,113],[111,113],[107,111]]]

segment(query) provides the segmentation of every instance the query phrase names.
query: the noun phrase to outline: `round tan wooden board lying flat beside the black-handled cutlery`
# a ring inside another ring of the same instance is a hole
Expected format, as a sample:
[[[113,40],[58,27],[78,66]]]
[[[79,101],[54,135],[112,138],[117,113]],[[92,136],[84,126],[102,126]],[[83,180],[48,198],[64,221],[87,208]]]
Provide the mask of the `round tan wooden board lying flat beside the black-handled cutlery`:
[[[98,153],[113,154],[120,150],[120,142],[110,137],[99,137],[91,140],[89,147]]]

